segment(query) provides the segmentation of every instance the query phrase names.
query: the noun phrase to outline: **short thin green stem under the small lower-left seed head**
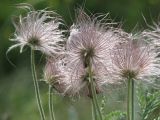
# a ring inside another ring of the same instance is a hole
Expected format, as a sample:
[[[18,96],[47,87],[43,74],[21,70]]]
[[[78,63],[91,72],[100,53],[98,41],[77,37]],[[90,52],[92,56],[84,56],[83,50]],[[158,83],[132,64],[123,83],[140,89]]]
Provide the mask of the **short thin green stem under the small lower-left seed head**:
[[[52,86],[49,85],[49,114],[51,120],[55,120],[54,110],[53,110],[53,94]]]

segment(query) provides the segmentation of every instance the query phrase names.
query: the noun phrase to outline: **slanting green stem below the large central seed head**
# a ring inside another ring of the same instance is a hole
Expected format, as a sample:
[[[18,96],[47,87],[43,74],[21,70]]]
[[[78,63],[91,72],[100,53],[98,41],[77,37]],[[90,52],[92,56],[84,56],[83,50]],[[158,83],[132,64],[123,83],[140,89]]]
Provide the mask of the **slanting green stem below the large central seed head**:
[[[94,102],[94,104],[95,104],[95,106],[97,108],[97,112],[99,114],[100,120],[103,120],[103,117],[102,117],[102,114],[101,114],[101,110],[100,110],[100,107],[98,105],[98,99],[97,99],[97,95],[96,95],[96,90],[95,90],[94,83],[93,83],[92,66],[91,66],[91,64],[89,64],[89,81],[90,81],[90,84],[91,84],[91,92],[92,92],[93,102]]]

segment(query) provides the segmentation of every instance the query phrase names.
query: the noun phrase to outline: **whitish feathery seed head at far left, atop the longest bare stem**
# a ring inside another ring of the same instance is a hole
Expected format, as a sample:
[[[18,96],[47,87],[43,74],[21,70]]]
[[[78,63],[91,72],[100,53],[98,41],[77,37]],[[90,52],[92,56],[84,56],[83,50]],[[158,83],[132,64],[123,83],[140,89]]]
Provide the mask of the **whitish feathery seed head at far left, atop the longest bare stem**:
[[[29,9],[29,7],[26,7]],[[22,52],[24,46],[28,45],[34,50],[52,55],[62,52],[63,35],[59,30],[60,17],[53,11],[31,10],[25,17],[19,16],[18,23],[13,21],[15,27],[14,37],[10,39],[16,42],[8,51],[20,46]]]

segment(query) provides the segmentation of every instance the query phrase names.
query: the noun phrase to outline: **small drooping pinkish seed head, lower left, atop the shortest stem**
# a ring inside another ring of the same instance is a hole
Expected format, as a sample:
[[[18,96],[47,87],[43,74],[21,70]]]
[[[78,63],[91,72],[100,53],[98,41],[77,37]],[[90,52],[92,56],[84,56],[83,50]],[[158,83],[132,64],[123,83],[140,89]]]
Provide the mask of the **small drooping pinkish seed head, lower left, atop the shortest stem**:
[[[44,68],[44,80],[59,93],[65,94],[68,86],[66,77],[64,61],[59,58],[48,58]]]

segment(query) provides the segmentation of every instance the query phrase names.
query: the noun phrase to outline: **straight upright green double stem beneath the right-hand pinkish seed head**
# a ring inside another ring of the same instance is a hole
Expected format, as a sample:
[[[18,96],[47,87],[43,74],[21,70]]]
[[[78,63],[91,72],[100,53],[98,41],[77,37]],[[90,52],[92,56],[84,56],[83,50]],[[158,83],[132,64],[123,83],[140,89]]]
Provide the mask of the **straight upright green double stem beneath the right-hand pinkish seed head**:
[[[134,80],[128,79],[127,118],[134,120]]]

